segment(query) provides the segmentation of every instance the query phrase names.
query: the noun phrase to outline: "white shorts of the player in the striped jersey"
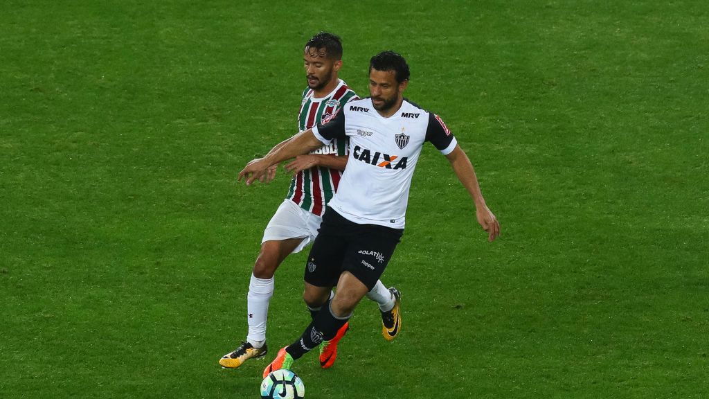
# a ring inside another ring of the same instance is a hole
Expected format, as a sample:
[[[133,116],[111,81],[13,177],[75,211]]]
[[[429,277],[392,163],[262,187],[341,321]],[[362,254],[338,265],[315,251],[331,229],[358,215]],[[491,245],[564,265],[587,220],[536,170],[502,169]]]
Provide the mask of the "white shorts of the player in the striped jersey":
[[[322,222],[323,217],[298,207],[291,200],[283,200],[271,218],[271,222],[268,222],[261,244],[266,241],[302,238],[301,244],[293,250],[293,253],[300,252],[318,236],[318,229]]]

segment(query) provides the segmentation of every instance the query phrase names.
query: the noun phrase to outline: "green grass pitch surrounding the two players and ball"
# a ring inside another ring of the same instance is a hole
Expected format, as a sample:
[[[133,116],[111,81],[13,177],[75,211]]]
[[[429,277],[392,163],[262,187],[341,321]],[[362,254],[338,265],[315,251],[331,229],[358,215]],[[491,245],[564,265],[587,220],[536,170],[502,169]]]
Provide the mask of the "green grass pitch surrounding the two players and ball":
[[[0,398],[256,398],[245,295],[296,129],[301,49],[341,77],[394,49],[406,96],[470,155],[490,244],[426,146],[382,280],[315,398],[709,395],[709,4],[676,1],[17,1],[0,6]],[[277,273],[275,351],[301,334],[306,253]],[[269,356],[270,358],[271,356]]]

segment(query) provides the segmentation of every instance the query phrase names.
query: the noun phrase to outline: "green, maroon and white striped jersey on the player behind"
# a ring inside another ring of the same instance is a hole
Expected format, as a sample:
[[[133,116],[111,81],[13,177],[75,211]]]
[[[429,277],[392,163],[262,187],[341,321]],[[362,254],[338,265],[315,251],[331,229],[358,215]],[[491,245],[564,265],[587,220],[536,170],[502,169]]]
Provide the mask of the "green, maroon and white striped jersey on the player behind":
[[[347,84],[340,80],[337,87],[325,97],[313,97],[313,89],[303,90],[301,110],[298,112],[298,131],[311,129],[319,121],[328,121],[345,103],[358,99]],[[322,146],[313,154],[347,155],[347,140],[333,140],[329,146]],[[342,170],[316,166],[302,170],[291,180],[287,198],[308,212],[323,216],[325,205],[337,191]]]

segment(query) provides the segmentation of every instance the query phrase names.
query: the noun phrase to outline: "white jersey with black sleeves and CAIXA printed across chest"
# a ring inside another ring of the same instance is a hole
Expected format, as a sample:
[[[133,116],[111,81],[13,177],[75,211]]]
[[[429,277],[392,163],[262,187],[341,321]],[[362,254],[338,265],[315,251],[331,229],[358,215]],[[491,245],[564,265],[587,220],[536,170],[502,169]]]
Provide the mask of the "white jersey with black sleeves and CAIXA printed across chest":
[[[457,141],[439,116],[404,99],[396,114],[384,118],[372,99],[347,103],[325,124],[313,127],[325,144],[350,138],[347,168],[330,201],[345,219],[403,229],[413,170],[425,141],[451,153]]]

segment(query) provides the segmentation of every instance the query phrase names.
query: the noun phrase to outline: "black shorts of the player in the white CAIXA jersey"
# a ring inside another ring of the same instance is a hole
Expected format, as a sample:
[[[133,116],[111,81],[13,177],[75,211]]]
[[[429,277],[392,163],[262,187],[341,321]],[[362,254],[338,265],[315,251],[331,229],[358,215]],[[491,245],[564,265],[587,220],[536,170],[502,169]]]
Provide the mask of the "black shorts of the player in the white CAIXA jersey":
[[[306,282],[335,287],[347,270],[369,290],[384,273],[403,235],[403,229],[350,222],[330,208],[325,210],[318,231],[308,255]]]

